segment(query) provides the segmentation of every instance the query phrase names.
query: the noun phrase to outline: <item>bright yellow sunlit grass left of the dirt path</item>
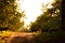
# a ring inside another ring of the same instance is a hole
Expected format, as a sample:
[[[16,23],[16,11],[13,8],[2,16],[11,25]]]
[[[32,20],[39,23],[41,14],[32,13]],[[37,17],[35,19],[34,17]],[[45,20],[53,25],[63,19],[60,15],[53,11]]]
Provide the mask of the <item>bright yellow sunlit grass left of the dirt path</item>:
[[[0,32],[0,43],[5,43],[6,37],[9,38],[12,33],[13,33],[12,31]]]

